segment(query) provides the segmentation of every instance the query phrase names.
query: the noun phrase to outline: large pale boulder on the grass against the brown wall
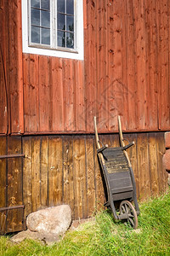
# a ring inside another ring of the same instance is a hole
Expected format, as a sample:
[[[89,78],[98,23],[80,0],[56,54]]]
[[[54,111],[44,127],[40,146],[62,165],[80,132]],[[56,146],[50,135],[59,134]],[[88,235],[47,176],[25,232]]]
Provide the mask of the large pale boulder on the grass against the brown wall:
[[[26,219],[27,228],[43,234],[62,236],[71,224],[71,207],[61,205],[32,212]]]

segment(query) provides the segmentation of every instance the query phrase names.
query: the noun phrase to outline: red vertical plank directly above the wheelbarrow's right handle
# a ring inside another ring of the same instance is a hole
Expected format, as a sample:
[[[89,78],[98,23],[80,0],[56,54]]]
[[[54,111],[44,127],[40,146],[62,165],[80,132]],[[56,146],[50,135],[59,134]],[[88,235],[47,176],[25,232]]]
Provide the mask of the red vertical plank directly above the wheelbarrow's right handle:
[[[117,129],[117,114],[123,113],[123,82],[122,82],[122,3],[111,3],[111,38],[110,38],[110,112],[111,130]],[[122,126],[124,127],[123,123]]]

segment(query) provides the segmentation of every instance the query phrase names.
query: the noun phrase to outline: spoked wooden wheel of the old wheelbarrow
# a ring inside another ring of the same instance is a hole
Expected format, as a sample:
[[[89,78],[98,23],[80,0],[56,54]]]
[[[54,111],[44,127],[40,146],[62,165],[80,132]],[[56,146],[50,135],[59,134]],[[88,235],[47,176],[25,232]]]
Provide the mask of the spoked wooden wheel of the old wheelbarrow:
[[[138,217],[137,213],[129,201],[122,201],[120,204],[120,214],[127,213],[127,223],[130,224],[130,226],[136,230],[138,227]]]

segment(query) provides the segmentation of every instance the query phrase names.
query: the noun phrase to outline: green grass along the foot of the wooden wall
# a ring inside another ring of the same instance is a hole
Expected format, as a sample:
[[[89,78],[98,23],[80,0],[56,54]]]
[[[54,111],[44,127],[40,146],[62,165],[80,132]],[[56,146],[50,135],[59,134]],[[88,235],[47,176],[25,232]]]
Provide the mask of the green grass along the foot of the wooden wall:
[[[31,240],[13,244],[1,236],[0,255],[170,255],[170,191],[139,207],[138,232],[104,211],[53,246]]]

